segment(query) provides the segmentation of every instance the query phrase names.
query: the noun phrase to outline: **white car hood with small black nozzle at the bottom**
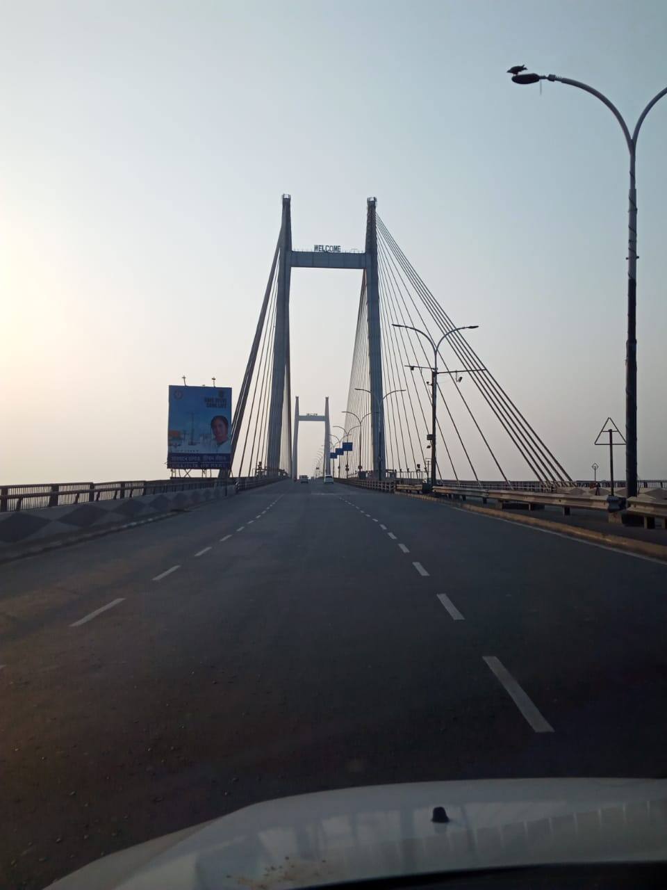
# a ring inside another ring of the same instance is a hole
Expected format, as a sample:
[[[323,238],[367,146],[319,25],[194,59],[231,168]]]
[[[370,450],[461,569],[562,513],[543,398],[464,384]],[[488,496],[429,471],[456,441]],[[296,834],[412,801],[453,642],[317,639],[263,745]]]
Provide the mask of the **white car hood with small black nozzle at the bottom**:
[[[449,821],[431,821],[443,806]],[[450,870],[667,860],[667,780],[507,779],[247,806],[92,862],[52,890],[283,890]]]

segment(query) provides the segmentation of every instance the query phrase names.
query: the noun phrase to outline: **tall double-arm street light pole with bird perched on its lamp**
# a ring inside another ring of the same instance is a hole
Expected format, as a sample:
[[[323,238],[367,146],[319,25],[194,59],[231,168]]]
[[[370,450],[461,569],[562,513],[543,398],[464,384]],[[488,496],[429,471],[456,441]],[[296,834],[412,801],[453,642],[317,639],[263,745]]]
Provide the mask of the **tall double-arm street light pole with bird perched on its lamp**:
[[[641,112],[632,134],[625,119],[615,105],[603,93],[599,93],[588,84],[569,77],[558,77],[555,74],[517,73],[512,77],[515,84],[536,84],[541,80],[551,83],[576,86],[585,93],[591,93],[596,99],[607,105],[623,130],[625,142],[630,153],[630,189],[628,191],[628,332],[625,341],[625,495],[627,498],[637,496],[637,185],[635,180],[635,162],[637,158],[637,139],[644,118],[655,103],[667,95],[667,86],[657,93]]]

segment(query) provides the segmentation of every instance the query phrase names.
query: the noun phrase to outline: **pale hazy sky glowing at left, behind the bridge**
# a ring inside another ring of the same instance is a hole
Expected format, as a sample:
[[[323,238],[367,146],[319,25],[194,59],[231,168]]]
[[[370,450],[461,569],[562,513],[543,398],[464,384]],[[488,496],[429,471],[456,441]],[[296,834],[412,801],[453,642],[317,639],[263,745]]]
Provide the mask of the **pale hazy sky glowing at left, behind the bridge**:
[[[164,477],[167,384],[238,390],[283,192],[294,247],[363,247],[376,195],[569,472],[606,468],[592,442],[624,420],[627,150],[591,96],[505,69],[586,81],[634,125],[667,85],[665,45],[663,0],[3,0],[0,482]],[[667,99],[638,154],[653,478],[667,476],[665,150]],[[342,417],[359,286],[293,272],[302,411],[329,395]],[[320,442],[302,426],[308,471]]]

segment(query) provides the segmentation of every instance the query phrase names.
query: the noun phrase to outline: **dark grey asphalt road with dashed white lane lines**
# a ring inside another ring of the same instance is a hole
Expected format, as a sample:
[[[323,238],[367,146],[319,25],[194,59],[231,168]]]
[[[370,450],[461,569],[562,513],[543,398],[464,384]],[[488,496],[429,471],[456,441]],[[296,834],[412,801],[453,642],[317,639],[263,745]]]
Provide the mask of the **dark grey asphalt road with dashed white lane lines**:
[[[664,776],[666,584],[291,481],[0,566],[0,886],[270,797]]]

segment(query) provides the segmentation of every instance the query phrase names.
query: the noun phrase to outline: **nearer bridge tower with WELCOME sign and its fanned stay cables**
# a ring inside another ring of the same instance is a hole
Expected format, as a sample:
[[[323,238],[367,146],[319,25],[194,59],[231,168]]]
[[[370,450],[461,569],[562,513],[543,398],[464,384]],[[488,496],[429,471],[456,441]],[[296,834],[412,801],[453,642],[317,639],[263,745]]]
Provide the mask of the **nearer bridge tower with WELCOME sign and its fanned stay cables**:
[[[360,271],[344,421],[345,439],[352,443],[346,455],[350,475],[382,481],[428,469],[434,480],[479,482],[489,476],[480,473],[473,457],[481,444],[485,467],[490,465],[499,481],[510,484],[497,448],[502,443],[506,453],[509,442],[534,481],[545,486],[572,482],[470,344],[465,330],[477,326],[457,327],[382,221],[376,198],[366,202],[363,252],[301,251],[292,246],[289,195],[283,196],[276,250],[237,401],[232,429],[237,475],[295,475],[290,367],[294,268]],[[330,447],[327,412],[323,473],[331,469]]]

